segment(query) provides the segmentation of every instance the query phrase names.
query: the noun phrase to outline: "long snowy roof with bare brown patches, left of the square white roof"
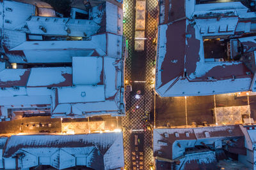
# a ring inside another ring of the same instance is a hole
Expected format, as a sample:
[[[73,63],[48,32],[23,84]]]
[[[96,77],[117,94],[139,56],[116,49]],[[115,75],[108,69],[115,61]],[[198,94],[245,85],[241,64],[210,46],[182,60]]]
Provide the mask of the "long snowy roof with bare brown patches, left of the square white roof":
[[[72,69],[71,67],[41,67],[32,69],[4,69],[0,71],[0,87],[15,86],[72,86]]]

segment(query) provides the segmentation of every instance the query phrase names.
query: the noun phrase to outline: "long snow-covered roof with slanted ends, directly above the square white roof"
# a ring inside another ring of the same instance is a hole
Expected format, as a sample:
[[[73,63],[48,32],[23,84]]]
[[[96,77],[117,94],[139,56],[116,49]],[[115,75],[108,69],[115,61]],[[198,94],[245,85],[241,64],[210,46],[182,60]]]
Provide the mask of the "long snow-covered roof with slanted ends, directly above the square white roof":
[[[24,57],[20,57],[18,63],[53,63],[53,62],[72,62],[72,57],[105,55],[100,46],[95,41],[25,41],[15,46],[10,52],[22,50]],[[7,56],[10,60],[12,56]]]

